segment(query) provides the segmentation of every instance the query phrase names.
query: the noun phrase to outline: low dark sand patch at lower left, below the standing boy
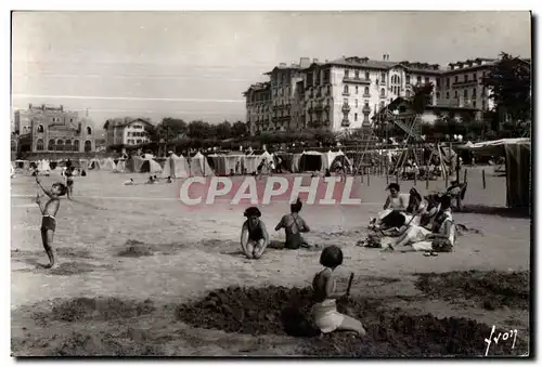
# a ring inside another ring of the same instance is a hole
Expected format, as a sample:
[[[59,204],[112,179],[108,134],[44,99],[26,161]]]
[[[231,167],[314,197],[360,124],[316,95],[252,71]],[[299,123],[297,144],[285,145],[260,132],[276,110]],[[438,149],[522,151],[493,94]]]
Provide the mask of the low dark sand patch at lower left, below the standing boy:
[[[150,314],[153,302],[122,301],[117,298],[75,298],[55,300],[50,312],[37,312],[33,318],[47,324],[50,320],[79,322],[83,319],[114,320]]]

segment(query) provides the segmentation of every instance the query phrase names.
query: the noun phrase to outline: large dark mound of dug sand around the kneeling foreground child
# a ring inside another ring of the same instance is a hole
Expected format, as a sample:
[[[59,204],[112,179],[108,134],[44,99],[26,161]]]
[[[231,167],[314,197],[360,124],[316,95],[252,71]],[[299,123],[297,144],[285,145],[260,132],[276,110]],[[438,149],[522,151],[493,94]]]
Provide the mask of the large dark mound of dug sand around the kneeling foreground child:
[[[428,356],[482,355],[491,328],[465,318],[438,319],[433,315],[409,316],[400,310],[385,311],[382,301],[339,300],[338,310],[364,324],[367,336],[332,333],[302,343],[300,352],[318,356]],[[177,317],[199,328],[253,335],[275,333],[314,337],[309,322],[312,290],[307,287],[238,288],[210,292],[203,300],[180,305]],[[515,351],[525,352],[525,343]],[[492,354],[511,354],[511,345],[496,344]]]

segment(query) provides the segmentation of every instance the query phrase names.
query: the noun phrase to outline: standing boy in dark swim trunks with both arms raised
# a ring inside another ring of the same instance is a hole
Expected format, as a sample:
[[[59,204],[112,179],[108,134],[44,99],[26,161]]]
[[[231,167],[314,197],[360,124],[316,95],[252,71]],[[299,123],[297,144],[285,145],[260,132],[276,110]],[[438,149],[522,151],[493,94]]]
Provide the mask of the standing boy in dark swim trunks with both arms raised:
[[[54,183],[51,186],[51,191],[47,191],[41,185],[41,182],[38,178],[36,178],[36,182],[39,187],[43,191],[43,193],[49,197],[49,199],[43,200],[46,196],[37,196],[36,204],[39,205],[39,209],[41,211],[42,220],[41,220],[41,240],[43,243],[43,248],[46,249],[47,255],[49,257],[49,265],[46,265],[47,268],[51,268],[54,266],[54,251],[53,251],[53,239],[54,239],[54,231],[56,230],[56,213],[59,212],[61,200],[60,196],[66,194],[66,186],[60,182]]]

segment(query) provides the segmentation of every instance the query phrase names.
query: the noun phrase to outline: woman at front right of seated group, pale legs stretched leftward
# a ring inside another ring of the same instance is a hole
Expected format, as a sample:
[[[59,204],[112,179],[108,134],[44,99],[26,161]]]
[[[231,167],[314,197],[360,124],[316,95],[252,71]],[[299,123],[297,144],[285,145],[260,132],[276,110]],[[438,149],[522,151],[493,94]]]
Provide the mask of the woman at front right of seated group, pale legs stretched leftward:
[[[429,251],[451,252],[455,243],[455,224],[452,218],[451,198],[443,196],[440,199],[440,211],[437,213],[431,231],[420,225],[412,225],[386,250],[393,250],[395,247],[401,251]]]

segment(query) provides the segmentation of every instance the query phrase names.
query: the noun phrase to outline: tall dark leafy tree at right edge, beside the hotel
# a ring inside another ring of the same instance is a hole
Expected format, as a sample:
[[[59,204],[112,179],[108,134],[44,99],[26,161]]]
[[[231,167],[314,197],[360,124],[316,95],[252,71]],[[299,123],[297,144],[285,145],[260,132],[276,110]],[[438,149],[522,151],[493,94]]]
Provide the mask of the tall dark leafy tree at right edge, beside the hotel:
[[[490,99],[495,103],[498,115],[513,120],[531,119],[531,65],[519,57],[501,52],[500,60],[483,78],[491,89]]]

